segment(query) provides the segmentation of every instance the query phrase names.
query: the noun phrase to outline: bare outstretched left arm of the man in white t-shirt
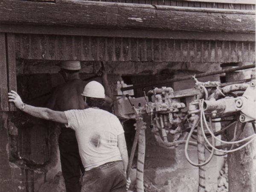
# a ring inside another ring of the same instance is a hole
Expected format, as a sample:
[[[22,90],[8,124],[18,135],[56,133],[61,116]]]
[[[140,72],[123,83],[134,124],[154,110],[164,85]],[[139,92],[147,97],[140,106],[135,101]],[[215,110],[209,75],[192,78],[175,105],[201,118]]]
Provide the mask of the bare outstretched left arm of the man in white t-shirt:
[[[39,108],[34,107],[31,105],[26,105],[22,102],[20,96],[15,91],[11,91],[11,93],[8,93],[9,102],[14,102],[15,106],[20,109],[21,111],[24,111],[25,113],[28,113],[32,116],[51,120],[55,122],[60,122],[67,124],[67,117],[65,116],[65,113],[63,111],[53,111],[48,108]]]

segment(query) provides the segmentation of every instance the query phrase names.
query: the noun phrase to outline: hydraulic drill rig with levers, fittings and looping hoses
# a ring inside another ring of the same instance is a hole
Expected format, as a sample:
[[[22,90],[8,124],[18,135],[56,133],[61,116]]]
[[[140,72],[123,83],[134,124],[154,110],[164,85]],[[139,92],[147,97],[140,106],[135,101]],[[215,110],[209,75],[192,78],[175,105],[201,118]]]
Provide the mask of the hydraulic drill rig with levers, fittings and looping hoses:
[[[205,191],[205,170],[204,165],[209,163],[215,151],[222,152],[222,155],[237,151],[256,137],[255,134],[239,140],[241,135],[235,135],[232,140],[224,141],[217,136],[239,122],[250,122],[255,130],[255,80],[242,83],[221,84],[218,81],[200,82],[194,77],[195,88],[181,91],[174,91],[171,87],[153,88],[145,93],[144,97],[134,98],[133,91],[122,91],[129,85],[122,81],[117,82],[113,89],[116,97],[114,102],[115,114],[123,119],[138,119],[144,114],[151,116],[151,132],[157,143],[164,148],[175,148],[180,144],[185,144],[185,155],[189,163],[199,167],[198,191]],[[181,102],[181,98],[182,101]],[[219,119],[231,122],[220,131],[213,131],[212,119]],[[141,125],[141,124],[140,124]],[[236,129],[235,127],[235,129]],[[145,129],[145,126],[144,126]],[[235,131],[236,132],[236,131]],[[141,134],[145,137],[145,132]],[[190,141],[191,137],[197,137],[197,142]],[[211,137],[211,142],[209,142]],[[145,138],[144,138],[145,140]],[[215,146],[215,140],[224,145]],[[241,146],[236,146],[241,142],[246,142]],[[144,147],[140,147],[139,153],[145,154]],[[187,153],[188,145],[198,148],[198,163],[189,159]],[[230,146],[227,150],[226,148]],[[144,151],[140,149],[143,148]],[[211,152],[209,158],[205,158],[205,149]],[[139,172],[143,170],[144,155],[138,154],[137,168]],[[219,154],[219,153],[218,153]],[[142,172],[143,173],[143,172]],[[138,176],[139,175],[139,176]],[[137,174],[137,191],[143,191],[143,175]]]

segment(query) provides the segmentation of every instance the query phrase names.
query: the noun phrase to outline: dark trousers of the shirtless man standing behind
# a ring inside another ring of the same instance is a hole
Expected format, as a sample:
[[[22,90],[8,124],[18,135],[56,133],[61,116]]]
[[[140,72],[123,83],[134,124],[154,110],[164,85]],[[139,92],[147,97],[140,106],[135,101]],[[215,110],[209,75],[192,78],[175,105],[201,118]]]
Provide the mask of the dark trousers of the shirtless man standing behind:
[[[61,128],[58,144],[61,157],[61,171],[66,191],[80,192],[81,185],[79,180],[81,172],[84,172],[84,166],[79,155],[75,131],[71,128]]]

